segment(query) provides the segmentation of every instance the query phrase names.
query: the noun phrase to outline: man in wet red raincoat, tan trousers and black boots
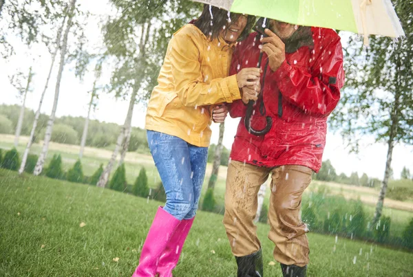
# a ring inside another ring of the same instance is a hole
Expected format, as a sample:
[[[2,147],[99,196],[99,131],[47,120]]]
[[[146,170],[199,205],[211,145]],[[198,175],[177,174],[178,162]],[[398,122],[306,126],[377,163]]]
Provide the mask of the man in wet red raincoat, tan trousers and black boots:
[[[233,54],[230,74],[257,65],[260,94],[242,89],[243,100],[230,105],[232,118],[242,117],[228,168],[224,225],[238,266],[238,276],[262,276],[262,251],[253,224],[257,192],[271,175],[268,238],[284,276],[306,276],[308,226],[300,219],[301,196],[321,167],[327,117],[335,109],[344,82],[340,37],[330,29],[298,27],[270,21],[266,37],[251,34]],[[256,100],[251,128],[244,126],[246,104]]]

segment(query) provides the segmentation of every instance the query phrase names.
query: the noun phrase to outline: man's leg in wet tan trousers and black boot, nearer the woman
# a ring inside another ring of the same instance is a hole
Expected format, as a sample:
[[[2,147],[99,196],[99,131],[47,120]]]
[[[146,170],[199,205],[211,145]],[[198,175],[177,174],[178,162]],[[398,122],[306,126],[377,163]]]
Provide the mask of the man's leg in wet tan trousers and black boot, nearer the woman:
[[[237,161],[231,161],[228,166],[223,223],[231,250],[237,259],[238,276],[248,276],[240,272],[248,269],[245,263],[262,268],[262,264],[257,265],[262,261],[261,244],[253,220],[257,212],[258,191],[269,172],[268,168]],[[261,260],[254,261],[257,259]]]

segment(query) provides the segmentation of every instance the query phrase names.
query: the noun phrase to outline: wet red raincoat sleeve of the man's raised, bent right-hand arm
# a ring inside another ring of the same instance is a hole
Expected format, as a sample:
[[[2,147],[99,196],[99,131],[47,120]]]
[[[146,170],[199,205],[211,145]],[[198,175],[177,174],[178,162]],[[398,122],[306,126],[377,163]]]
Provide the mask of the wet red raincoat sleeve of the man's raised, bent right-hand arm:
[[[273,73],[283,100],[300,107],[305,113],[320,117],[328,116],[335,109],[344,82],[340,37],[330,41],[310,72],[304,67],[289,65],[284,60]]]

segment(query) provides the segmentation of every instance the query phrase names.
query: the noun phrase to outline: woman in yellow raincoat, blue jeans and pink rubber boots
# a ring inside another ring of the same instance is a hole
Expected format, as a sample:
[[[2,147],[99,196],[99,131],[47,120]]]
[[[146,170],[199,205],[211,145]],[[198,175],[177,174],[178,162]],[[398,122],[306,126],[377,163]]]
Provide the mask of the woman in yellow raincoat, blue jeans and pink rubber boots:
[[[197,20],[169,41],[158,85],[149,100],[146,126],[153,160],[167,194],[158,208],[133,277],[172,276],[198,201],[211,137],[211,119],[223,122],[225,105],[240,89],[259,82],[260,69],[228,76],[233,46],[255,18],[204,5]]]

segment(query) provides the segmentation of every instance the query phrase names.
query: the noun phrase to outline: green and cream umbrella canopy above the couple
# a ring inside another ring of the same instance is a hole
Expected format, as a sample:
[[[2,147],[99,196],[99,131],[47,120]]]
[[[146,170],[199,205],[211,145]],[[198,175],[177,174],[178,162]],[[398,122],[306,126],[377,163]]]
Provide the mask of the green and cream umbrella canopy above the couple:
[[[231,12],[357,34],[404,36],[390,0],[193,0]]]

